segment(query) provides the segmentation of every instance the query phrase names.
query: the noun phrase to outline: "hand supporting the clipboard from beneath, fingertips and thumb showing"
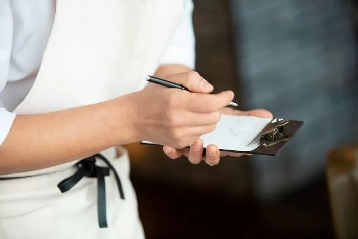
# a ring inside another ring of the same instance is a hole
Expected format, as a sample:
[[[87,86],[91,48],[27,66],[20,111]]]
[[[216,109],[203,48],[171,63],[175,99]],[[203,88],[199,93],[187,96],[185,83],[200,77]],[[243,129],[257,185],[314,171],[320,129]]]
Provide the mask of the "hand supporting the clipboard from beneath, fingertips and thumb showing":
[[[267,110],[251,110],[251,111],[238,111],[233,108],[223,108],[222,114],[225,115],[250,115],[250,116],[258,116],[258,117],[273,117],[271,112]],[[193,164],[199,164],[202,161],[205,161],[208,165],[214,166],[220,162],[220,157],[232,155],[235,157],[240,157],[244,154],[238,153],[229,153],[220,151],[219,148],[210,144],[206,147],[205,156],[203,157],[203,141],[198,140],[196,143],[192,144],[189,148],[184,149],[175,149],[168,146],[163,147],[164,153],[171,159],[177,159],[181,156],[188,157],[189,161]]]

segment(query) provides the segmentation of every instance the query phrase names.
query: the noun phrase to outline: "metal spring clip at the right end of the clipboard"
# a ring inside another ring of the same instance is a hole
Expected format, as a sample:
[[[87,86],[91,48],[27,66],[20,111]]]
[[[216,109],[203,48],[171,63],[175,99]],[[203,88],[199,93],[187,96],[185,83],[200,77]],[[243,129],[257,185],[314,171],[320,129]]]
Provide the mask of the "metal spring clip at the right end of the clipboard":
[[[259,139],[259,145],[263,147],[270,147],[282,141],[288,141],[291,137],[285,135],[285,126],[289,122],[290,120],[275,117],[269,124],[267,124],[254,141]]]

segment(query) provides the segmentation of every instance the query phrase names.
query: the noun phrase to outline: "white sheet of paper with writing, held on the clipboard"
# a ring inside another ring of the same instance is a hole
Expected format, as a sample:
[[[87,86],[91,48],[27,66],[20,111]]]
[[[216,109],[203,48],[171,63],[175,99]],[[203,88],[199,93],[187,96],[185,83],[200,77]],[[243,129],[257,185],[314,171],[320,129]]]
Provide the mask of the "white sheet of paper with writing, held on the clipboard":
[[[201,138],[204,147],[215,144],[221,150],[252,151],[259,146],[259,141],[253,141],[271,120],[256,116],[221,115],[216,129]],[[148,141],[143,143],[155,144]]]

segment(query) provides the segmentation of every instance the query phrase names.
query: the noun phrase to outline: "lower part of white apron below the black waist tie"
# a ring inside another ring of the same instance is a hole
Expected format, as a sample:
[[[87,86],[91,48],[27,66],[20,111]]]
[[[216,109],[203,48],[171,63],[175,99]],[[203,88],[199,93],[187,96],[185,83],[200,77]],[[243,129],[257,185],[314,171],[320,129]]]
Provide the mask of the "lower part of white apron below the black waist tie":
[[[68,168],[46,175],[0,181],[1,239],[143,239],[137,198],[129,179],[129,158],[110,160],[121,182],[121,199],[111,172],[105,177],[108,228],[99,228],[97,178],[82,178],[61,193],[57,184],[76,172]]]

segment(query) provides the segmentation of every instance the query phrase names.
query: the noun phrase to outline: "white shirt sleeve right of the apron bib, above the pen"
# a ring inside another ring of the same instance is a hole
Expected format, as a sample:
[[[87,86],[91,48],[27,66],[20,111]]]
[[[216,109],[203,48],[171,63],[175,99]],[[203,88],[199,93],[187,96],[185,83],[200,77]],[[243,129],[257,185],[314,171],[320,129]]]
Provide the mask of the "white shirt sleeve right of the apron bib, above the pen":
[[[195,69],[195,34],[193,27],[194,4],[186,0],[183,19],[171,38],[160,64],[183,64]]]

